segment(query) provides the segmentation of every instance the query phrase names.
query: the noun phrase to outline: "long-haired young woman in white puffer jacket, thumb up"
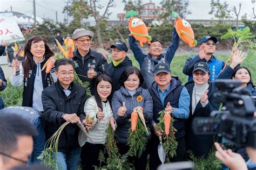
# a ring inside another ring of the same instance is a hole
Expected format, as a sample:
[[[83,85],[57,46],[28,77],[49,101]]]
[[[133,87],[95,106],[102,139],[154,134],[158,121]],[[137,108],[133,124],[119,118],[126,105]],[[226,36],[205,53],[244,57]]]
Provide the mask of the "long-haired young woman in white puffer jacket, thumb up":
[[[104,151],[107,126],[110,119],[114,121],[110,104],[110,96],[113,91],[111,78],[105,74],[98,76],[95,87],[95,95],[88,98],[84,105],[84,112],[89,114],[90,118],[94,117],[94,122],[88,129],[91,140],[87,139],[82,148],[83,169],[95,169],[93,166],[99,166],[98,157],[100,151]],[[88,126],[85,121],[83,124]]]

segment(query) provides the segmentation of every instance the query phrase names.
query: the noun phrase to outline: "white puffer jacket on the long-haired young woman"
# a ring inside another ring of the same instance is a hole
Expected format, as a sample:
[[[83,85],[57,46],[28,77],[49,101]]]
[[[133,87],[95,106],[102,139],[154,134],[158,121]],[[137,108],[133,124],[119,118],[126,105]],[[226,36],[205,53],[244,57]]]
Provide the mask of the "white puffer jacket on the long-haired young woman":
[[[99,121],[96,118],[96,114],[99,111],[99,107],[96,103],[95,97],[92,96],[87,99],[84,105],[84,112],[89,114],[90,118],[95,117],[95,123],[93,123],[93,128],[88,130],[88,133],[95,144],[105,144],[106,135],[107,135],[107,126],[109,125],[109,118],[113,117],[113,112],[110,106],[109,101],[107,103],[102,102],[104,113],[104,118]],[[87,139],[87,142],[92,143],[90,139]]]

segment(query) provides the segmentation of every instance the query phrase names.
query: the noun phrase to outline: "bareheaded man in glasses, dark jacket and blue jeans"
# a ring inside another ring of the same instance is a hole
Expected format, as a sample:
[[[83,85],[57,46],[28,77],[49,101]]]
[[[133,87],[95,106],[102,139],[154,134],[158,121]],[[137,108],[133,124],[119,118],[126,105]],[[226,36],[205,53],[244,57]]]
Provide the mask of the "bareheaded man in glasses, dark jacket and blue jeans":
[[[42,92],[44,115],[48,125],[46,139],[49,139],[63,123],[70,122],[59,137],[59,169],[78,169],[81,152],[77,123],[81,123],[78,116],[84,109],[86,91],[82,86],[73,83],[74,69],[72,60],[60,59],[56,63],[57,82]]]

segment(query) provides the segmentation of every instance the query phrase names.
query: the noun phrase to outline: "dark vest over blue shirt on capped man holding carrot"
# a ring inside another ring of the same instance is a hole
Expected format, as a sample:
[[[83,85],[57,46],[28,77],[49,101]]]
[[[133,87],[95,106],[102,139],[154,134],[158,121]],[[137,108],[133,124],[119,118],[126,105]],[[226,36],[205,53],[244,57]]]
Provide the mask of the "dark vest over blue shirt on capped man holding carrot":
[[[173,108],[179,108],[179,97],[183,87],[184,86],[182,84],[178,84],[173,89],[170,89],[165,97],[164,106],[166,106],[167,103],[170,102]],[[151,88],[149,91],[153,98],[153,121],[158,123],[159,122],[157,120],[159,117],[158,113],[159,111],[164,110],[165,107],[163,107],[163,105],[161,104],[161,100],[160,100],[160,96],[158,94],[157,88]],[[185,119],[179,119],[176,117],[173,117],[173,118],[176,119],[176,121],[174,121],[173,123],[174,128],[177,129],[177,132],[175,133],[176,139],[185,136]]]

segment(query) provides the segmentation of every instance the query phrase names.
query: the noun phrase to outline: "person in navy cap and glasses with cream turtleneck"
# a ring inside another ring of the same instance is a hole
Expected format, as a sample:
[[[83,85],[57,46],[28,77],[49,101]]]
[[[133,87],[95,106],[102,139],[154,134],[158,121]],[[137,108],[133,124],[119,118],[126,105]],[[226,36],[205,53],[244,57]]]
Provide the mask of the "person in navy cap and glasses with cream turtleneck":
[[[213,146],[214,135],[196,135],[192,122],[196,117],[210,117],[214,110],[219,109],[220,103],[213,97],[218,90],[210,80],[209,66],[200,61],[194,64],[193,81],[185,87],[190,94],[190,116],[186,119],[186,145],[196,157],[208,157]]]

